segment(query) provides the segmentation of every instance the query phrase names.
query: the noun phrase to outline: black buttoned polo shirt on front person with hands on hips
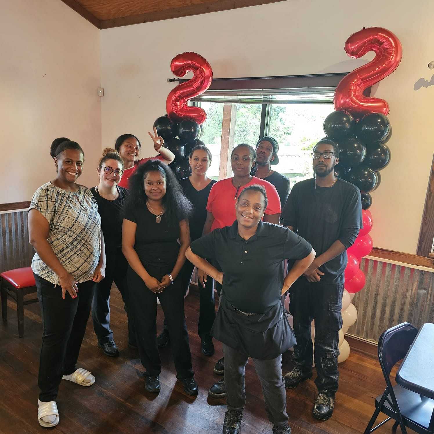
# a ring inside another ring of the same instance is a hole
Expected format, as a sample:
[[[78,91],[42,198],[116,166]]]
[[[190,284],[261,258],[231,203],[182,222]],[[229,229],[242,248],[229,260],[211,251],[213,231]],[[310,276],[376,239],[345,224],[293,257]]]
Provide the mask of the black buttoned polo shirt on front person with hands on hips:
[[[237,309],[263,313],[280,302],[282,261],[303,259],[311,245],[286,227],[260,221],[253,237],[238,235],[238,222],[214,229],[191,243],[201,258],[216,260],[223,271],[225,299]]]

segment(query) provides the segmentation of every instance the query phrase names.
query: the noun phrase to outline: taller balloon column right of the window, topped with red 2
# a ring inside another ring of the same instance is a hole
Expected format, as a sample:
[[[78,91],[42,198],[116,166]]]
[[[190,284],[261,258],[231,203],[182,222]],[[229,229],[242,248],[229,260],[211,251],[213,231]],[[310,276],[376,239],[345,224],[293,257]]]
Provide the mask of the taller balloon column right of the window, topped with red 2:
[[[339,331],[338,362],[349,356],[349,345],[344,339],[357,319],[357,309],[351,300],[365,286],[365,275],[360,270],[363,256],[372,250],[372,204],[371,193],[380,185],[379,171],[391,158],[386,142],[391,137],[391,126],[386,115],[388,103],[379,98],[367,97],[363,91],[391,74],[402,57],[399,39],[389,30],[370,27],[352,34],[345,43],[345,52],[350,57],[364,56],[375,52],[375,58],[345,76],[335,90],[332,112],[324,121],[328,139],[339,147],[339,164],[335,175],[349,181],[360,189],[362,198],[363,228],[355,243],[347,250],[345,289],[342,297],[342,329]]]

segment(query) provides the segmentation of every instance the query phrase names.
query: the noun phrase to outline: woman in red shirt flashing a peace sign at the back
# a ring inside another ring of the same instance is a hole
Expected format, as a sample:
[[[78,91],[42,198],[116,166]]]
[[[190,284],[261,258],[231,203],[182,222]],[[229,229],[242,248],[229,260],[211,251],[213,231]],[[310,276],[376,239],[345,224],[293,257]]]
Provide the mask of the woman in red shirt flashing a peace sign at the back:
[[[141,145],[139,139],[133,134],[122,134],[116,139],[115,149],[119,152],[119,155],[124,162],[124,173],[121,181],[119,181],[119,187],[128,188],[128,180],[134,174],[140,164],[146,163],[146,161],[149,160],[160,160],[165,164],[170,164],[175,159],[174,153],[168,148],[164,148],[164,140],[157,134],[157,128],[154,127],[154,135],[152,135],[149,131],[148,134],[151,136],[151,139],[154,142],[155,151],[157,151],[159,154],[155,157],[138,159]]]

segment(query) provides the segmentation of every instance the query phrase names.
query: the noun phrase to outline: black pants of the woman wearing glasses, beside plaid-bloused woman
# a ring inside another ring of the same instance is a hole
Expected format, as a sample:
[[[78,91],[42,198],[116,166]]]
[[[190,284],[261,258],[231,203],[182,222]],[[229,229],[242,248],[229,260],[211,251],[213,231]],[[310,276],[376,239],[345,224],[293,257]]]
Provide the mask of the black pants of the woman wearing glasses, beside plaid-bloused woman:
[[[115,282],[124,301],[125,312],[127,312],[128,342],[135,345],[134,325],[130,318],[131,314],[128,315],[127,268],[128,262],[125,256],[122,253],[118,253],[112,260],[107,260],[105,278],[97,283],[92,303],[92,322],[100,344],[113,340],[113,331],[110,329],[110,289],[112,288],[112,283]]]

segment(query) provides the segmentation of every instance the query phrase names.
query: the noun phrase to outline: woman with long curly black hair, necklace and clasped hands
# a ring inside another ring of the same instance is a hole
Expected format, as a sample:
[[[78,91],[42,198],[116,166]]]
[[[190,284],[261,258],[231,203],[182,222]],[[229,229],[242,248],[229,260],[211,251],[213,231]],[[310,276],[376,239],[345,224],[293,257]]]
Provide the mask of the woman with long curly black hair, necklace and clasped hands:
[[[184,288],[178,276],[190,245],[188,217],[192,205],[171,169],[148,161],[130,178],[130,196],[122,228],[122,252],[128,261],[130,305],[145,389],[160,390],[161,359],[157,346],[157,297],[172,338],[177,378],[188,395],[198,388],[184,318]],[[179,243],[178,243],[179,240]]]

